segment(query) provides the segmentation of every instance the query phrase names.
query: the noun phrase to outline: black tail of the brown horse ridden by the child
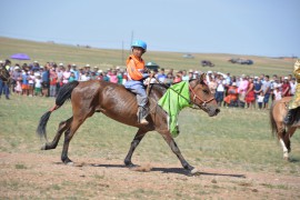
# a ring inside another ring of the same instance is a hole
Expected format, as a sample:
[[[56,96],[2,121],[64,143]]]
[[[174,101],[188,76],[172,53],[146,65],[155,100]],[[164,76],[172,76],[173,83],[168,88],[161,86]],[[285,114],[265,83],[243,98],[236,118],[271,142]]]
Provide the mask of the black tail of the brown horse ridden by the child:
[[[60,88],[57,99],[56,99],[56,106],[51,108],[48,112],[46,112],[40,119],[40,122],[37,129],[37,133],[40,136],[40,138],[44,137],[44,139],[47,140],[46,127],[47,127],[47,122],[51,113],[54,110],[59,109],[67,100],[71,99],[71,93],[78,84],[79,84],[78,81],[73,81]]]

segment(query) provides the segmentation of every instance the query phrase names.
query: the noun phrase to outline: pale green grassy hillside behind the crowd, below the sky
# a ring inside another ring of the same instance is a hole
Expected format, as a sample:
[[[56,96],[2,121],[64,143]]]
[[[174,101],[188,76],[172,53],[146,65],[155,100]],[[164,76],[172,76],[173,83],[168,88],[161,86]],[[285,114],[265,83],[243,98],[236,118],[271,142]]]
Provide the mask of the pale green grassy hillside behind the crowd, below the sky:
[[[33,62],[38,60],[41,64],[48,61],[77,63],[84,66],[98,66],[100,69],[107,69],[113,66],[124,66],[129,56],[129,50],[94,49],[87,47],[77,47],[68,44],[58,44],[51,42],[36,42],[0,37],[0,59],[4,60],[13,53],[27,53]],[[292,67],[296,59],[274,59],[268,57],[226,54],[226,53],[191,53],[193,59],[184,59],[186,52],[162,52],[148,51],[143,59],[146,62],[153,61],[161,68],[174,70],[198,70],[198,71],[221,71],[231,74],[279,74],[286,76],[292,73]],[[232,64],[228,62],[231,58],[244,58],[254,61],[252,66]],[[210,60],[216,66],[201,67],[201,60]],[[12,63],[23,63],[24,61],[12,60]]]

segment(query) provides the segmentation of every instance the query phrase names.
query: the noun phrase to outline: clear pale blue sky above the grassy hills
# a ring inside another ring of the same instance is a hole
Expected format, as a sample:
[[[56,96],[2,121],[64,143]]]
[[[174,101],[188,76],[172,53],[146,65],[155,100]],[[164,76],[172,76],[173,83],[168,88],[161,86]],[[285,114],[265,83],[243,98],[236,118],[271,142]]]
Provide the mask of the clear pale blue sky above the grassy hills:
[[[300,57],[300,0],[0,0],[0,37],[148,51]]]

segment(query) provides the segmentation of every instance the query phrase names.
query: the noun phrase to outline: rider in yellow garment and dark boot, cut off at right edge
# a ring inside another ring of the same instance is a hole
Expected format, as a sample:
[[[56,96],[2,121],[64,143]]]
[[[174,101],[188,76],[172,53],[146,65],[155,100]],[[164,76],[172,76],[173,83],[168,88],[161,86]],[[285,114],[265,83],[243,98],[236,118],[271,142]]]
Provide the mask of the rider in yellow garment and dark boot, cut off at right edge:
[[[289,103],[289,111],[283,120],[286,124],[291,124],[297,113],[297,108],[300,106],[300,61],[297,60],[293,66],[293,74],[297,80],[296,93],[292,98],[292,101]]]

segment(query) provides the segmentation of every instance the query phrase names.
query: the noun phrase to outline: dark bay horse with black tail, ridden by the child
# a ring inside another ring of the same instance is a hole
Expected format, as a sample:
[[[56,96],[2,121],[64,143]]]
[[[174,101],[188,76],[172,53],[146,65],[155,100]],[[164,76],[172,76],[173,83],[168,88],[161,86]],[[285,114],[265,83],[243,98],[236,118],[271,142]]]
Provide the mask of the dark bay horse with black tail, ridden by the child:
[[[189,82],[191,102],[199,106],[210,117],[217,116],[220,110],[208,86],[203,81],[204,77],[206,74],[202,74],[200,79]],[[68,158],[69,143],[72,137],[87,118],[92,117],[94,112],[102,112],[116,121],[139,129],[124,159],[124,164],[127,167],[134,166],[131,162],[131,157],[144,134],[148,131],[156,130],[170,146],[183,168],[193,173],[197,170],[182,157],[168,130],[167,113],[158,106],[158,100],[163,96],[167,88],[161,84],[150,86],[148,96],[150,113],[147,117],[149,124],[142,126],[138,123],[138,104],[136,96],[126,90],[123,86],[104,81],[70,82],[59,90],[56,106],[41,117],[37,132],[47,140],[46,127],[51,112],[61,107],[68,99],[71,99],[73,116],[68,120],[60,122],[53,141],[47,141],[41,149],[54,149],[61,134],[64,132],[61,160],[64,163],[72,163]]]

